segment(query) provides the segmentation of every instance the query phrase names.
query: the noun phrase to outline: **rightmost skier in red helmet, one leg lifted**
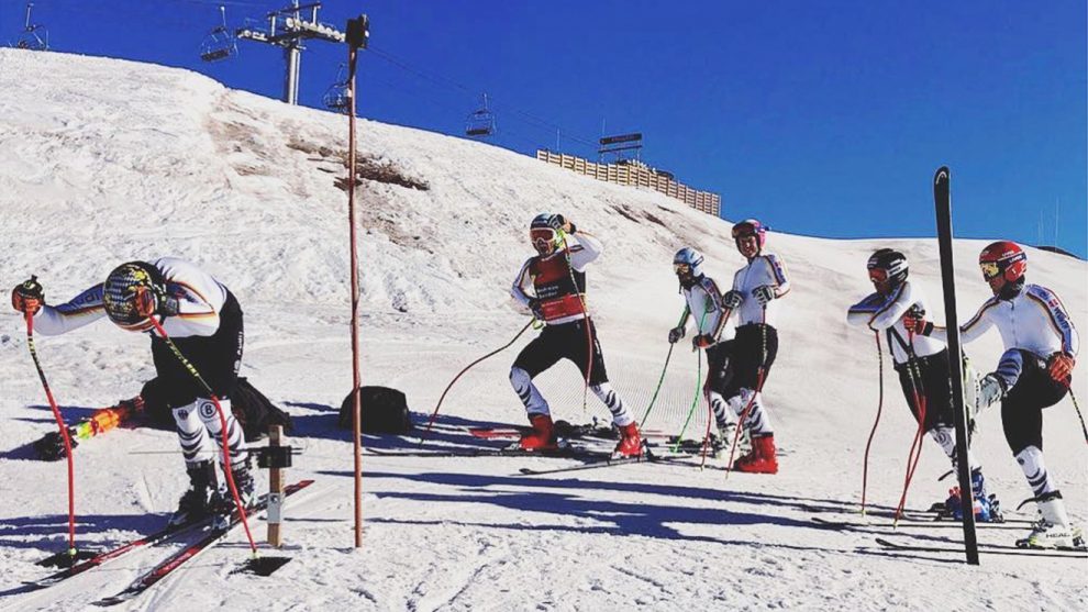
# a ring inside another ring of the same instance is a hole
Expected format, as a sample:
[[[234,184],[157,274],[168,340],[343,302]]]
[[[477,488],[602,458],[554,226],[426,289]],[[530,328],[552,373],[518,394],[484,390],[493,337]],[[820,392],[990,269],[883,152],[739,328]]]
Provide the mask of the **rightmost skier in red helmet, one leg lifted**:
[[[1066,513],[1062,491],[1043,460],[1043,409],[1056,404],[1069,391],[1079,337],[1057,294],[1026,282],[1028,254],[1012,242],[999,241],[978,257],[982,278],[993,297],[982,303],[961,327],[969,343],[997,327],[1004,353],[995,371],[977,390],[976,413],[1001,402],[1004,437],[1034,493],[1041,519],[1018,546],[1084,547],[1085,539]],[[935,338],[946,330],[920,316],[904,320],[908,329]]]

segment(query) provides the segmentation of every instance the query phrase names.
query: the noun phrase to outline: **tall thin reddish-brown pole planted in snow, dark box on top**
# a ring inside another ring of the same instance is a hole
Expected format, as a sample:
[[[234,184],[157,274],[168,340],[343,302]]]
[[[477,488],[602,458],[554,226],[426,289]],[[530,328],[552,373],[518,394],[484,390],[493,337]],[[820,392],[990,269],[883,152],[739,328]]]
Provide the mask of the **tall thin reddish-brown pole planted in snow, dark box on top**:
[[[363,433],[359,405],[359,272],[355,242],[355,67],[358,49],[366,46],[367,18],[347,22],[347,219],[352,229],[352,436],[355,442],[355,547],[363,546]]]

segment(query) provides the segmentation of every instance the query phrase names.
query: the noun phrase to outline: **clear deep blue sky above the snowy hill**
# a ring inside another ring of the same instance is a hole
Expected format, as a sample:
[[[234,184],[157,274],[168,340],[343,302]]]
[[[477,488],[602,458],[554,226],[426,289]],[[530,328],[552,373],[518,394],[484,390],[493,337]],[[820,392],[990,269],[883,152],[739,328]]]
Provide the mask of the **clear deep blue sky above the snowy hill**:
[[[233,27],[287,2],[37,0],[33,21],[56,51],[278,98],[274,48],[199,60],[220,4]],[[24,7],[0,0],[0,41]],[[487,91],[499,146],[595,157],[602,123],[641,132],[643,159],[721,193],[728,219],[829,237],[933,235],[930,181],[947,164],[957,235],[1088,254],[1084,0],[331,0],[319,16],[358,13],[367,118],[460,133]],[[302,103],[321,105],[345,56],[310,44]]]

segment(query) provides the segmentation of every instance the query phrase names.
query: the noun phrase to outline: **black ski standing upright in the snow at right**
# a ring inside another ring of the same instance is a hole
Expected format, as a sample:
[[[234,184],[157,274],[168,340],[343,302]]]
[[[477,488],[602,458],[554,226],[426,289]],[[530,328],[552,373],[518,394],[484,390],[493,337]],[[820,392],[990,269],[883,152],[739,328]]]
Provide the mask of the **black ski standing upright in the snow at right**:
[[[941,279],[944,283],[944,320],[948,326],[948,376],[952,377],[952,420],[956,426],[956,468],[959,472],[959,499],[964,509],[964,548],[967,563],[978,565],[975,534],[975,491],[970,487],[967,463],[967,413],[964,410],[963,352],[959,346],[959,321],[956,318],[956,279],[952,258],[952,188],[946,166],[933,177],[933,203],[936,209],[937,242],[941,252]]]

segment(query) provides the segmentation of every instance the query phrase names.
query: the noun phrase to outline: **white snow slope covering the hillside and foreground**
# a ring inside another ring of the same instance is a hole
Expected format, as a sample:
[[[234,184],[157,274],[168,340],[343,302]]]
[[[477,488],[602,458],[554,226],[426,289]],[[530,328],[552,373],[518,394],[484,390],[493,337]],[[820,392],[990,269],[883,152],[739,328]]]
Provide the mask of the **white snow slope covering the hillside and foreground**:
[[[297,420],[293,442],[304,453],[291,479],[317,479],[289,503],[287,552],[295,560],[271,578],[230,575],[247,555],[235,534],[130,609],[1088,608],[1085,560],[986,555],[968,567],[962,555],[882,550],[875,536],[890,530],[826,530],[810,520],[811,507],[848,510],[861,498],[878,365],[871,336],[844,319],[870,290],[865,259],[879,246],[903,249],[912,278],[936,300],[935,241],[770,234],[769,247],[795,282],[766,389],[787,453],[779,475],[726,480],[719,470],[665,464],[526,477],[518,468],[573,461],[366,457],[366,532],[355,550],[351,437],[335,429],[351,386],[346,196],[337,186],[344,118],[185,70],[13,49],[0,49],[0,287],[36,274],[48,300],[59,302],[133,258],[178,255],[206,267],[246,312],[243,375]],[[606,243],[589,274],[590,308],[614,386],[639,415],[682,309],[671,254],[685,245],[701,249],[723,283],[742,265],[726,222],[657,193],[407,127],[362,121],[359,138],[367,176],[385,177],[359,191],[364,381],[403,390],[420,419],[464,365],[528,322],[508,288],[530,255],[525,227],[540,211],[562,212]],[[955,198],[970,197],[955,189]],[[828,194],[811,205],[833,214],[833,200]],[[728,194],[725,201],[729,211]],[[930,210],[929,201],[918,202],[917,214]],[[974,265],[984,244],[956,245],[961,318],[988,293]],[[1078,329],[1088,330],[1086,264],[1035,249],[1029,257],[1031,279],[1055,289]],[[435,444],[471,444],[465,425],[524,421],[507,372],[531,335],[454,387]],[[37,350],[66,418],[77,420],[135,394],[154,376],[146,344],[100,322],[40,337]],[[1000,341],[993,333],[969,348],[985,369]],[[893,372],[884,370],[868,497],[887,508],[898,501],[914,426]],[[593,398],[582,411],[569,364],[541,380],[557,418],[608,416]],[[31,596],[3,596],[41,576],[33,561],[63,546],[66,493],[63,464],[31,460],[23,449],[55,425],[23,324],[2,310],[0,386],[0,609],[86,609],[163,550]],[[695,387],[695,355],[676,350],[650,425],[678,431]],[[1080,372],[1074,389],[1088,398]],[[691,435],[702,431],[703,411]],[[1011,509],[1030,489],[998,411],[984,414],[980,426],[977,449],[990,489]],[[1068,399],[1045,412],[1044,437],[1070,514],[1084,524],[1088,464]],[[118,543],[160,525],[186,487],[176,448],[173,433],[144,429],[85,443],[76,453],[80,542]],[[926,443],[908,505],[943,500],[951,480],[936,477],[946,469]],[[266,481],[262,475],[258,486]],[[256,532],[263,536],[263,526]],[[900,532],[889,537],[934,543],[959,533]],[[1011,543],[1023,532],[985,528],[979,537]]]

